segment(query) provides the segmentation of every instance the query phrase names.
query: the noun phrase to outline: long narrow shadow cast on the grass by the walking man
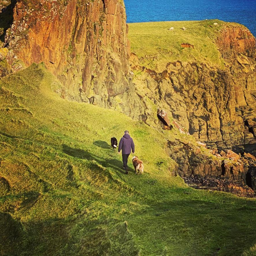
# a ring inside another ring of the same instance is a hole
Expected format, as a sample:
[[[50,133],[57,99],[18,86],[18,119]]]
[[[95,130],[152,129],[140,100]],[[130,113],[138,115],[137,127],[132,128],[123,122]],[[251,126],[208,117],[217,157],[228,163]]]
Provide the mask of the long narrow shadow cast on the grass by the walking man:
[[[119,161],[118,159],[105,159],[84,149],[73,149],[65,144],[62,145],[62,148],[63,152],[67,155],[80,159],[94,160],[103,167],[110,167],[118,172],[125,174],[125,171],[123,170],[123,162]]]

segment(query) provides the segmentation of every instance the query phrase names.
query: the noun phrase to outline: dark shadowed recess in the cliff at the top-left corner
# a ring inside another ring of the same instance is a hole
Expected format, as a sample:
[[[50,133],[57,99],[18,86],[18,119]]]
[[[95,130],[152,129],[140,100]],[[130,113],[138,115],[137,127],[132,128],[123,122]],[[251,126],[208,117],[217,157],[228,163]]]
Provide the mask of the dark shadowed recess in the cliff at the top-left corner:
[[[2,34],[0,33],[0,41],[5,42],[5,35],[8,28],[11,27],[13,22],[13,9],[16,5],[17,0],[11,0],[11,3],[2,9],[0,12],[0,31],[2,30]],[[7,47],[6,44],[4,47]]]

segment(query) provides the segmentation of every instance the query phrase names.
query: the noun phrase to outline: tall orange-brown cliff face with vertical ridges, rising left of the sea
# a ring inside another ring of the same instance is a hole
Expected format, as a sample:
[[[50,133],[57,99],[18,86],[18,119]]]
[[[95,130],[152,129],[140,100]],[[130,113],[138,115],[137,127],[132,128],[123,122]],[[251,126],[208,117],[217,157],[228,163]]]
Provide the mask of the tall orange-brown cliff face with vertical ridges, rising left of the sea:
[[[63,97],[130,114],[129,40],[123,1],[18,1],[5,33],[15,59],[44,62]],[[22,66],[20,67],[22,68]]]

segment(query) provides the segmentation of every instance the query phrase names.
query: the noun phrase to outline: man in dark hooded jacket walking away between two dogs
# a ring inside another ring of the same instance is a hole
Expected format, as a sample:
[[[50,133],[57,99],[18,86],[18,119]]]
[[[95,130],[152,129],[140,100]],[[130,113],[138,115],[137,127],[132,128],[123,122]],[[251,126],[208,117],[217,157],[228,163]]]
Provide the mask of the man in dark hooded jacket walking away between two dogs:
[[[128,166],[127,166],[128,157],[131,154],[131,151],[133,154],[135,151],[133,139],[129,135],[129,131],[125,131],[125,135],[121,138],[119,142],[118,154],[120,154],[121,149],[122,149],[124,169],[126,170],[125,174],[128,174]]]

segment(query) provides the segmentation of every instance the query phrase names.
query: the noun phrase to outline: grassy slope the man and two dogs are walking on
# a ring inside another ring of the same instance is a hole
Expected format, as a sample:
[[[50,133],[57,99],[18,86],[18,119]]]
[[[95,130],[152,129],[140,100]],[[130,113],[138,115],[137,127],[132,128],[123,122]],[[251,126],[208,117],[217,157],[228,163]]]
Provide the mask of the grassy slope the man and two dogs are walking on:
[[[255,253],[255,200],[188,188],[170,176],[173,131],[63,100],[58,86],[42,65],[0,80],[2,254]],[[144,175],[124,175],[110,149],[125,129]]]

